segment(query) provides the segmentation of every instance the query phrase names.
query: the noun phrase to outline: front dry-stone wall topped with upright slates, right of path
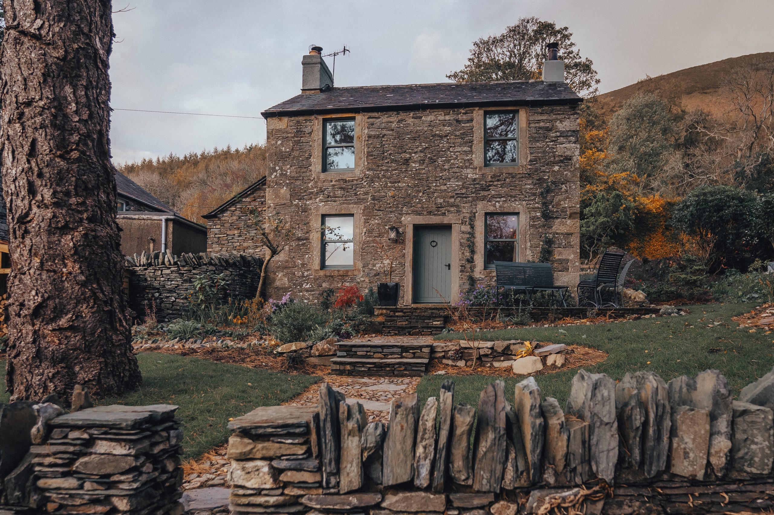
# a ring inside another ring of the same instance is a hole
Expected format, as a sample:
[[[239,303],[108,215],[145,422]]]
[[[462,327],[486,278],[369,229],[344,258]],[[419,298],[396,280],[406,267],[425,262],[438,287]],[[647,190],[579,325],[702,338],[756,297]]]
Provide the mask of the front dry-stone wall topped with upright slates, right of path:
[[[717,370],[668,384],[581,370],[564,411],[533,377],[490,384],[478,410],[446,381],[423,406],[393,400],[385,426],[323,384],[318,406],[229,423],[231,513],[760,513],[772,408],[774,373],[733,401]]]

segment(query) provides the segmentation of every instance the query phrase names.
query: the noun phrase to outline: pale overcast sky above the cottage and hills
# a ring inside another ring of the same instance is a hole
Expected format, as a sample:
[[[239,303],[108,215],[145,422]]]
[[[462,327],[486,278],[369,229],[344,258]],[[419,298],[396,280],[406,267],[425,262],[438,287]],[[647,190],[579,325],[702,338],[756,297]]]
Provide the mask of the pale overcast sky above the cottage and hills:
[[[772,0],[114,0],[114,108],[260,117],[300,93],[310,44],[337,86],[447,81],[471,43],[520,16],[568,26],[600,91],[774,51]],[[327,58],[329,67],[332,61]],[[262,119],[115,111],[115,162],[265,140]]]

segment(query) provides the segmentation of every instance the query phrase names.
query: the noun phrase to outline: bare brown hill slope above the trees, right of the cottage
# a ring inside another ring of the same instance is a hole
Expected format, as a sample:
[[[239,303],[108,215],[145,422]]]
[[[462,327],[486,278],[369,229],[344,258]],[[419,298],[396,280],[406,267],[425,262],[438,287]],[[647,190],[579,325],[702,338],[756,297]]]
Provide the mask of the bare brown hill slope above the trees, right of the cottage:
[[[730,107],[728,96],[723,91],[724,80],[736,68],[755,62],[769,62],[774,65],[774,52],[731,57],[640,80],[627,87],[599,95],[598,108],[605,116],[610,116],[636,94],[653,93],[686,110],[700,108],[712,114],[721,114]]]

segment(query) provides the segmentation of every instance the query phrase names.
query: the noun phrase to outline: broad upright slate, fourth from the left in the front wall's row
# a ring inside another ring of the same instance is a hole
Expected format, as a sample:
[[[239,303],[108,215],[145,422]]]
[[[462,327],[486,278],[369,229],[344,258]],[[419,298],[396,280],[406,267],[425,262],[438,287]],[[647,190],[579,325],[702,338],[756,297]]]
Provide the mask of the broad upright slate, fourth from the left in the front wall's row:
[[[418,404],[416,394],[392,399],[382,462],[384,486],[406,483],[413,477]]]

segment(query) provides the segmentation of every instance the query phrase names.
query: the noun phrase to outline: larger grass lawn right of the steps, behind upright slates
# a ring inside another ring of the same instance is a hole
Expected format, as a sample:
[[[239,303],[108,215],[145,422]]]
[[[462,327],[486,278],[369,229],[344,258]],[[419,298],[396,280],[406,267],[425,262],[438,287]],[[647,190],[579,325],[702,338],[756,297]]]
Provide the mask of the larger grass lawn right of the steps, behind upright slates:
[[[662,316],[633,322],[607,323],[596,326],[536,327],[486,331],[482,339],[529,339],[539,342],[584,345],[604,350],[608,359],[587,371],[607,373],[620,380],[627,372],[652,370],[669,381],[674,377],[689,376],[707,370],[720,370],[735,395],[742,387],[769,372],[774,367],[774,333],[765,334],[757,329],[736,329],[732,316],[752,309],[754,304],[691,305],[690,315]],[[713,322],[719,326],[708,327]],[[560,329],[566,333],[560,333]],[[584,337],[585,336],[585,337]],[[459,333],[447,333],[437,339],[458,339]],[[447,369],[448,372],[453,367]],[[536,376],[544,397],[556,397],[564,406],[570,394],[570,380],[577,369]],[[422,402],[437,396],[440,384],[451,379],[456,383],[455,402],[478,405],[478,395],[492,376],[425,376],[417,393]],[[524,377],[504,377],[509,400],[513,386]]]

